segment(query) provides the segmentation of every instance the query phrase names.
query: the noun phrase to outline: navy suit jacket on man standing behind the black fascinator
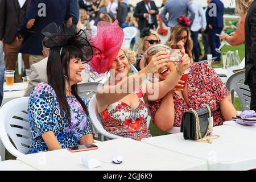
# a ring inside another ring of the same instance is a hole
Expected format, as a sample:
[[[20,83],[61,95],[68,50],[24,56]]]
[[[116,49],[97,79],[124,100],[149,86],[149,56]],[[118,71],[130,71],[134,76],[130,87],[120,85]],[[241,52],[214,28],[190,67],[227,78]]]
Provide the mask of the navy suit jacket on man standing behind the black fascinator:
[[[42,6],[38,7],[39,3],[46,5],[46,16],[40,17],[38,15],[42,8]],[[64,20],[70,17],[69,0],[31,0],[27,14],[18,28],[18,33],[23,35],[24,38],[22,45],[19,47],[19,52],[30,55],[42,55],[44,35],[41,34],[41,31],[43,28],[52,22],[55,22],[57,26],[63,27]],[[28,20],[32,18],[35,18],[35,23],[28,30],[26,25]]]

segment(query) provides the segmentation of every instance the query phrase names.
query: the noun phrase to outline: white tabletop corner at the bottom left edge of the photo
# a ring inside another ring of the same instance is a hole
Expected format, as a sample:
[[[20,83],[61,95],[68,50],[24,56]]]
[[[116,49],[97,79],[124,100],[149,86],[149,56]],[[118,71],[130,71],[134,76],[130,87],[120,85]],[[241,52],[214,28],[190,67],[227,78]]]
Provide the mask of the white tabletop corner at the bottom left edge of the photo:
[[[0,162],[0,171],[35,171],[35,168],[28,166],[18,160],[5,160]]]

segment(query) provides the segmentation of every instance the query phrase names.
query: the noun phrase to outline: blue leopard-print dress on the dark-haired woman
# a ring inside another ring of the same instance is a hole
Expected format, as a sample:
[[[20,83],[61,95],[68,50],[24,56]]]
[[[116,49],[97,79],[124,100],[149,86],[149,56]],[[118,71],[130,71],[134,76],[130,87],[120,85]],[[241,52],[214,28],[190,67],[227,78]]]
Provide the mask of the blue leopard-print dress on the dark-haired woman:
[[[60,109],[56,93],[52,86],[41,82],[31,92],[28,99],[28,119],[32,132],[32,144],[27,154],[48,151],[42,134],[53,131],[62,148],[79,144],[86,134],[92,134],[90,122],[79,101],[74,96],[66,96],[71,109],[71,123]],[[82,98],[85,105],[88,102]]]

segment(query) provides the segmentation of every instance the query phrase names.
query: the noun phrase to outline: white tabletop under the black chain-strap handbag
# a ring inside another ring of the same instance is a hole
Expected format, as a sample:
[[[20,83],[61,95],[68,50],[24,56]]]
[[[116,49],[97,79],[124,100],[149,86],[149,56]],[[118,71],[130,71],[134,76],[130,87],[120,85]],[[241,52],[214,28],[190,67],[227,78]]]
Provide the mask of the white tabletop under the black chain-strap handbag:
[[[234,126],[213,128],[212,144],[184,140],[183,133],[143,139],[142,142],[170,151],[204,159],[209,170],[248,170],[256,168],[256,132]]]

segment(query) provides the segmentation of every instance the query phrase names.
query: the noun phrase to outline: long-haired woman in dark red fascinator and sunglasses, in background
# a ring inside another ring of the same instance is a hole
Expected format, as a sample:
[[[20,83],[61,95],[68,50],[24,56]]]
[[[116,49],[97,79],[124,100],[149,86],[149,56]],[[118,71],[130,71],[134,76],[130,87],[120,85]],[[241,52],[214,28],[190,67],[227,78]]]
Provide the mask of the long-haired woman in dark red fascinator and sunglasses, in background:
[[[191,57],[191,63],[193,63],[192,49],[193,42],[191,40],[189,23],[185,23],[184,20],[180,20],[174,27],[172,27],[171,35],[167,40],[166,46],[172,49],[185,49],[185,53]]]

